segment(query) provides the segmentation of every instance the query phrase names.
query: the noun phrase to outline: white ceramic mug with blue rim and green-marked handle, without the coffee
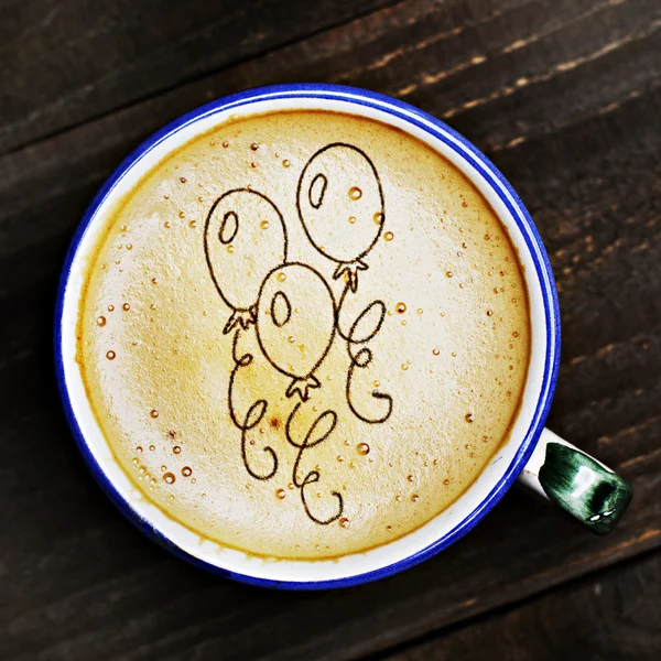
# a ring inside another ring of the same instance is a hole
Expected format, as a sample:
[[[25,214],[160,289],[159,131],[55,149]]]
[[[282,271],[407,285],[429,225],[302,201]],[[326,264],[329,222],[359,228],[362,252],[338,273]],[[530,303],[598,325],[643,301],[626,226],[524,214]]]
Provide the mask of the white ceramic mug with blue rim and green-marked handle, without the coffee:
[[[532,351],[520,412],[509,440],[477,480],[422,528],[382,546],[333,561],[272,562],[202,540],[150,503],[132,485],[104,437],[85,393],[76,355],[84,274],[110,209],[156,163],[230,118],[291,109],[334,110],[379,120],[427,143],[478,188],[507,227],[524,269]],[[410,567],[468,532],[517,478],[596,532],[607,532],[631,498],[630,487],[603,464],[544,430],[560,360],[555,282],[540,236],[523,204],[492,163],[443,122],[395,99],[335,85],[279,85],[213,101],[185,115],[139,147],[93,201],[66,258],[57,296],[55,358],[64,407],[93,474],[143,532],[176,555],[247,583],[293,589],[339,587]]]

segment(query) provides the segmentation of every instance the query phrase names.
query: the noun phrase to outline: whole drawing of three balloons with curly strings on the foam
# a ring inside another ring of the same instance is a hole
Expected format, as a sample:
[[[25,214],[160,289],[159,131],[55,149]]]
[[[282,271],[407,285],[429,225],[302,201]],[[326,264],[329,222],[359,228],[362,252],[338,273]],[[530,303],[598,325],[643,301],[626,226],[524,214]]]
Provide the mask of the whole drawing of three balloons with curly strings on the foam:
[[[347,175],[354,177],[353,185],[346,184]],[[305,473],[301,463],[307,451],[333,434],[338,414],[333,410],[322,412],[305,433],[295,433],[301,423],[294,419],[313,391],[322,388],[315,372],[336,340],[346,345],[349,358],[345,397],[350,413],[364,423],[381,424],[393,409],[390,394],[372,390],[375,410],[367,411],[364,398],[356,397],[354,387],[358,370],[372,364],[373,354],[368,345],[383,325],[386,303],[375,300],[351,323],[340,322],[340,316],[346,316],[342,312],[348,293],[358,291],[358,273],[369,269],[366,258],[386,219],[375,164],[357,147],[340,142],[324,147],[303,167],[296,188],[296,210],[312,247],[337,264],[333,280],[345,279],[338,301],[317,269],[288,260],[288,227],[283,215],[269,197],[250,187],[234,188],[216,199],[207,216],[204,250],[216,290],[231,311],[223,330],[224,335],[234,332],[234,368],[227,402],[230,420],[240,431],[243,466],[259,480],[271,479],[279,469],[273,447],[259,448],[258,444],[260,437],[263,443],[262,430],[258,427],[269,410],[268,400],[257,399],[245,413],[237,411],[237,381],[245,373],[241,370],[254,362],[252,354],[238,350],[239,338],[241,334],[251,334],[254,326],[266,360],[291,379],[285,389],[286,398],[300,400],[293,404],[284,429],[286,442],[297,449],[292,485],[299,489],[307,517],[327,525],[342,517],[343,496],[330,491],[335,505],[329,509],[327,502],[322,502],[324,514],[315,513],[307,489],[321,480],[321,469],[316,466]],[[258,447],[252,449],[256,445]]]

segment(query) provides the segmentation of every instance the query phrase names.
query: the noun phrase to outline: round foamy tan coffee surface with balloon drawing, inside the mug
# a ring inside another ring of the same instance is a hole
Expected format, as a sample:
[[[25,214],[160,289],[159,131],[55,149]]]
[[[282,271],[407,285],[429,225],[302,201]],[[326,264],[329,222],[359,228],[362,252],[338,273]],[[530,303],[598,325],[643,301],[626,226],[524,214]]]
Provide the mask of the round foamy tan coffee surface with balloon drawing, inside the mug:
[[[410,533],[519,411],[507,231],[378,121],[218,126],[113,210],[86,278],[77,361],[105,437],[145,499],[223,546],[323,559]]]

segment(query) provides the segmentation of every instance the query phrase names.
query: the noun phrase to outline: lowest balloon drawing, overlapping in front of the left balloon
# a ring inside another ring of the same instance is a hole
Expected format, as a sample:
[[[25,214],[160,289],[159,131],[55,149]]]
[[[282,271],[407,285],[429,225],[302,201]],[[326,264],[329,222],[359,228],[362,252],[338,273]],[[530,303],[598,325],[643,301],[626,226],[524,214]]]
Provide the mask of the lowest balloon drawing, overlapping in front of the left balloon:
[[[303,401],[335,335],[335,303],[324,278],[307,264],[293,262],[273,269],[258,297],[257,337],[269,362],[292,378],[286,395]]]

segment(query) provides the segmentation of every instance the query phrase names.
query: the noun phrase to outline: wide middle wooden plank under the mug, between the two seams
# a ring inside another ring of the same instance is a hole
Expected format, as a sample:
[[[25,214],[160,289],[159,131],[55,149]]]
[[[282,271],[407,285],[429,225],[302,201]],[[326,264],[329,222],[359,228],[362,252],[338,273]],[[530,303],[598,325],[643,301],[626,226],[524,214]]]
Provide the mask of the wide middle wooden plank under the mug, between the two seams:
[[[173,78],[163,94],[0,156],[0,659],[356,659],[660,548],[660,15],[651,0],[409,0],[184,85]],[[563,313],[549,424],[636,489],[608,538],[513,491],[402,575],[279,594],[170,557],[87,475],[51,350],[56,280],[85,206],[177,115],[240,88],[315,79],[445,116],[525,202]],[[25,108],[39,110],[33,94]]]

